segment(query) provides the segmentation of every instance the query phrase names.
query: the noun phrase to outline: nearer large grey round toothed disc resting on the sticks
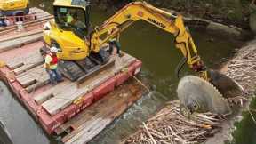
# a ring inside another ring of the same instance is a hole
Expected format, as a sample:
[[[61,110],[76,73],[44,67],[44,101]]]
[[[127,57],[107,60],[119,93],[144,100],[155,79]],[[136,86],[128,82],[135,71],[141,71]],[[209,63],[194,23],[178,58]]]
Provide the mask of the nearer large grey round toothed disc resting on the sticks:
[[[181,78],[177,89],[180,99],[180,112],[189,117],[193,112],[212,112],[220,115],[231,113],[228,100],[215,86],[198,76]]]

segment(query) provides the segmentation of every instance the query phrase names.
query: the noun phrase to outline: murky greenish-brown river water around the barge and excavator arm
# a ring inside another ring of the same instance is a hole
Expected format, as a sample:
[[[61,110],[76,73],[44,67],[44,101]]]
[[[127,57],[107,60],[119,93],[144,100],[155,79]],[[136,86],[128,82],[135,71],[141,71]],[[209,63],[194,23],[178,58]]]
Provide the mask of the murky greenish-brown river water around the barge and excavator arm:
[[[45,10],[52,12],[51,1],[31,1],[34,6],[42,3],[45,4]],[[108,18],[105,12],[96,9],[93,9],[92,12],[93,24],[99,24]],[[211,68],[220,66],[220,62],[232,56],[235,48],[238,47],[234,43],[226,42],[225,39],[212,37],[202,32],[192,30],[191,33],[196,41],[198,51],[208,67]],[[114,124],[108,126],[104,132],[92,140],[92,144],[117,143],[134,132],[138,125],[148,116],[153,115],[157,109],[164,107],[166,100],[176,99],[175,88],[178,78],[175,76],[174,69],[182,57],[180,52],[174,48],[172,35],[141,21],[122,34],[121,44],[125,52],[129,52],[143,61],[140,79],[151,84],[154,91],[143,96]],[[188,69],[185,68],[181,74],[186,75],[187,73]],[[57,143],[55,140],[47,138],[40,126],[20,106],[20,103],[12,98],[12,94],[7,91],[4,84],[0,86],[4,90],[0,97],[0,117],[4,117],[12,140],[17,144]]]

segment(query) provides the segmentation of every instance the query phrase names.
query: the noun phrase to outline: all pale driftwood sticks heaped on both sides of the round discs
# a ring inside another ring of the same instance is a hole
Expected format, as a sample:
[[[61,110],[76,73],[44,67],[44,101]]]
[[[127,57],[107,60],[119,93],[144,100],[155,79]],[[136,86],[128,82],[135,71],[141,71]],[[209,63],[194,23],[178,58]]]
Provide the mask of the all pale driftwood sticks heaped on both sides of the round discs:
[[[221,71],[236,80],[244,88],[242,95],[228,98],[230,104],[243,105],[255,91],[256,85],[256,40],[245,44],[237,51],[235,57],[229,60]],[[160,110],[156,116],[142,124],[139,131],[135,132],[125,144],[130,143],[201,143],[208,140],[222,129],[225,117],[212,113],[194,114],[190,120],[180,115],[180,102],[171,101]],[[231,126],[231,125],[230,125]]]

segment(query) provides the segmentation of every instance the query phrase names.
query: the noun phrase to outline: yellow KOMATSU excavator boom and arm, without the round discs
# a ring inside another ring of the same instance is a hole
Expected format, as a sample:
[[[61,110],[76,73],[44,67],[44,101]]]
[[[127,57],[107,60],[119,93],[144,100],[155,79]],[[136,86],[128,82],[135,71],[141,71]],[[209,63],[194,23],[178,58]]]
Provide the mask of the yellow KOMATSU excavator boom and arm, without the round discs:
[[[200,76],[208,80],[204,63],[197,53],[196,45],[188,29],[184,26],[182,16],[173,15],[171,12],[165,12],[144,2],[127,4],[114,16],[106,20],[100,28],[95,28],[91,34],[91,51],[99,52],[102,44],[105,44],[111,37],[117,36],[138,20],[145,20],[157,28],[171,33],[175,37],[175,46],[180,49],[189,68],[200,72]],[[113,28],[117,28],[117,30],[111,35],[107,35],[108,30]]]

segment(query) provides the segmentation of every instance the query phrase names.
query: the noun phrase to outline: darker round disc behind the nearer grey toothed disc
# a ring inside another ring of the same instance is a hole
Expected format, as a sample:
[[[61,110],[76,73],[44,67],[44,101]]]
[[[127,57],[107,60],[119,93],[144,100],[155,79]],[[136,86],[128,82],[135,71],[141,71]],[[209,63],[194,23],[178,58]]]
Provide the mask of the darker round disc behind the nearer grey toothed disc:
[[[235,80],[216,70],[210,70],[210,83],[213,84],[224,98],[233,98],[243,95],[244,89]]]

